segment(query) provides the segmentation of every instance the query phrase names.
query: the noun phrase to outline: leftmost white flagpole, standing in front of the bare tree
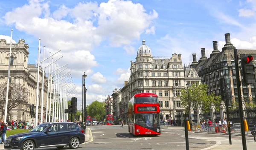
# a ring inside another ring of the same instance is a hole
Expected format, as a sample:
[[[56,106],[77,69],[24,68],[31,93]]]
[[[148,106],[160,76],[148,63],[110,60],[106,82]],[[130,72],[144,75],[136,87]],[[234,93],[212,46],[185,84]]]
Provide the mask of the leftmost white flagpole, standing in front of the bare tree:
[[[7,122],[7,106],[8,106],[8,95],[9,95],[9,82],[10,82],[10,67],[11,67],[11,56],[12,56],[12,31],[11,29],[11,42],[10,42],[10,54],[9,54],[9,66],[8,66],[8,75],[7,75],[7,88],[6,88],[6,105],[4,110],[4,123]]]

